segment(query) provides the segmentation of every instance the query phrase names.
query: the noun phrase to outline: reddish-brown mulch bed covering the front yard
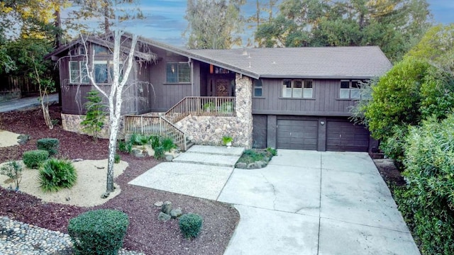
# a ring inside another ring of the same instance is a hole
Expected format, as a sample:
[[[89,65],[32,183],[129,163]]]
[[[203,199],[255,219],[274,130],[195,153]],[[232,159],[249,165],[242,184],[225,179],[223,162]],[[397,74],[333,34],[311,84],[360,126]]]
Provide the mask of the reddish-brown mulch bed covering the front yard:
[[[52,119],[61,123],[58,106],[50,106],[50,115]],[[1,130],[31,136],[31,140],[24,145],[0,148],[0,162],[21,159],[23,152],[36,149],[36,140],[45,137],[60,140],[60,152],[57,157],[106,159],[107,140],[94,143],[92,137],[62,130],[60,123],[49,130],[45,126],[40,108],[0,113]],[[68,220],[82,212],[99,208],[117,209],[126,212],[130,220],[123,245],[126,249],[142,251],[145,254],[223,254],[238,224],[239,215],[235,208],[212,200],[128,185],[129,181],[160,162],[152,158],[135,158],[130,154],[120,155],[121,159],[129,164],[124,174],[116,179],[116,183],[121,187],[121,193],[104,205],[81,208],[43,203],[40,199],[25,193],[0,188],[0,216],[67,232]],[[182,208],[183,212],[198,213],[204,218],[199,237],[192,241],[184,239],[177,220],[165,223],[157,220],[160,208],[153,204],[164,200],[170,200],[174,208]]]

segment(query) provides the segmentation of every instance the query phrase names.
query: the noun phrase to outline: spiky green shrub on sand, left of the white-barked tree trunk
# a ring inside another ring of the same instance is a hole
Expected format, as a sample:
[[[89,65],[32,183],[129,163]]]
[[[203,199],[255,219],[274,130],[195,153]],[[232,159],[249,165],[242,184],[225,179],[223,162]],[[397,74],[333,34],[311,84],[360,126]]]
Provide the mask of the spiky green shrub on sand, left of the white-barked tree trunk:
[[[77,172],[69,160],[48,159],[41,166],[38,179],[44,192],[59,191],[61,188],[74,186]]]

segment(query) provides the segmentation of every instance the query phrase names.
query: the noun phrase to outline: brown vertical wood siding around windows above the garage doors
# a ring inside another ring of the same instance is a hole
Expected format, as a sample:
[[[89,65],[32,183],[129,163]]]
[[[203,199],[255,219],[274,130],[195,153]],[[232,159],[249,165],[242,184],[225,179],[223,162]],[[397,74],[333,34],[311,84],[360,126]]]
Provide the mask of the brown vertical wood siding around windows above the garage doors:
[[[355,101],[338,99],[340,80],[314,79],[314,98],[282,98],[282,79],[263,79],[262,97],[253,98],[253,113],[277,115],[348,116]]]

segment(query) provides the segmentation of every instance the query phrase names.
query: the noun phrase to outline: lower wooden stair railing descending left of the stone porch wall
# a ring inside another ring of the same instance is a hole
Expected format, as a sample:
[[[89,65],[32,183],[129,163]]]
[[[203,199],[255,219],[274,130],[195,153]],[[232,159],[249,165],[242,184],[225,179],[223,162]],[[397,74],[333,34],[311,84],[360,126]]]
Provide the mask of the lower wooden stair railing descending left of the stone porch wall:
[[[162,137],[170,137],[175,142],[175,145],[178,145],[184,151],[187,150],[184,132],[162,116],[125,115],[124,118],[126,134],[155,134]]]

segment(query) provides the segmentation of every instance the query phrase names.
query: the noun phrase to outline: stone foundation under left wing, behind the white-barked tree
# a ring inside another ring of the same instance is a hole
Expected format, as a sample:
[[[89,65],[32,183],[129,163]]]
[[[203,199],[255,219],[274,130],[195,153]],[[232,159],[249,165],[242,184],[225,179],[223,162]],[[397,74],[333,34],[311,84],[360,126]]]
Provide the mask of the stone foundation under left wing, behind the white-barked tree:
[[[92,135],[88,132],[84,131],[84,127],[82,126],[82,121],[85,118],[85,115],[75,115],[75,114],[65,114],[62,113],[62,127],[64,130],[70,132],[77,132],[78,134],[82,135]],[[123,117],[120,118],[120,128],[118,128],[118,139],[123,139],[124,132],[123,132]],[[102,139],[109,139],[109,116],[106,116],[106,120],[104,121],[104,127],[98,133],[98,138]]]

